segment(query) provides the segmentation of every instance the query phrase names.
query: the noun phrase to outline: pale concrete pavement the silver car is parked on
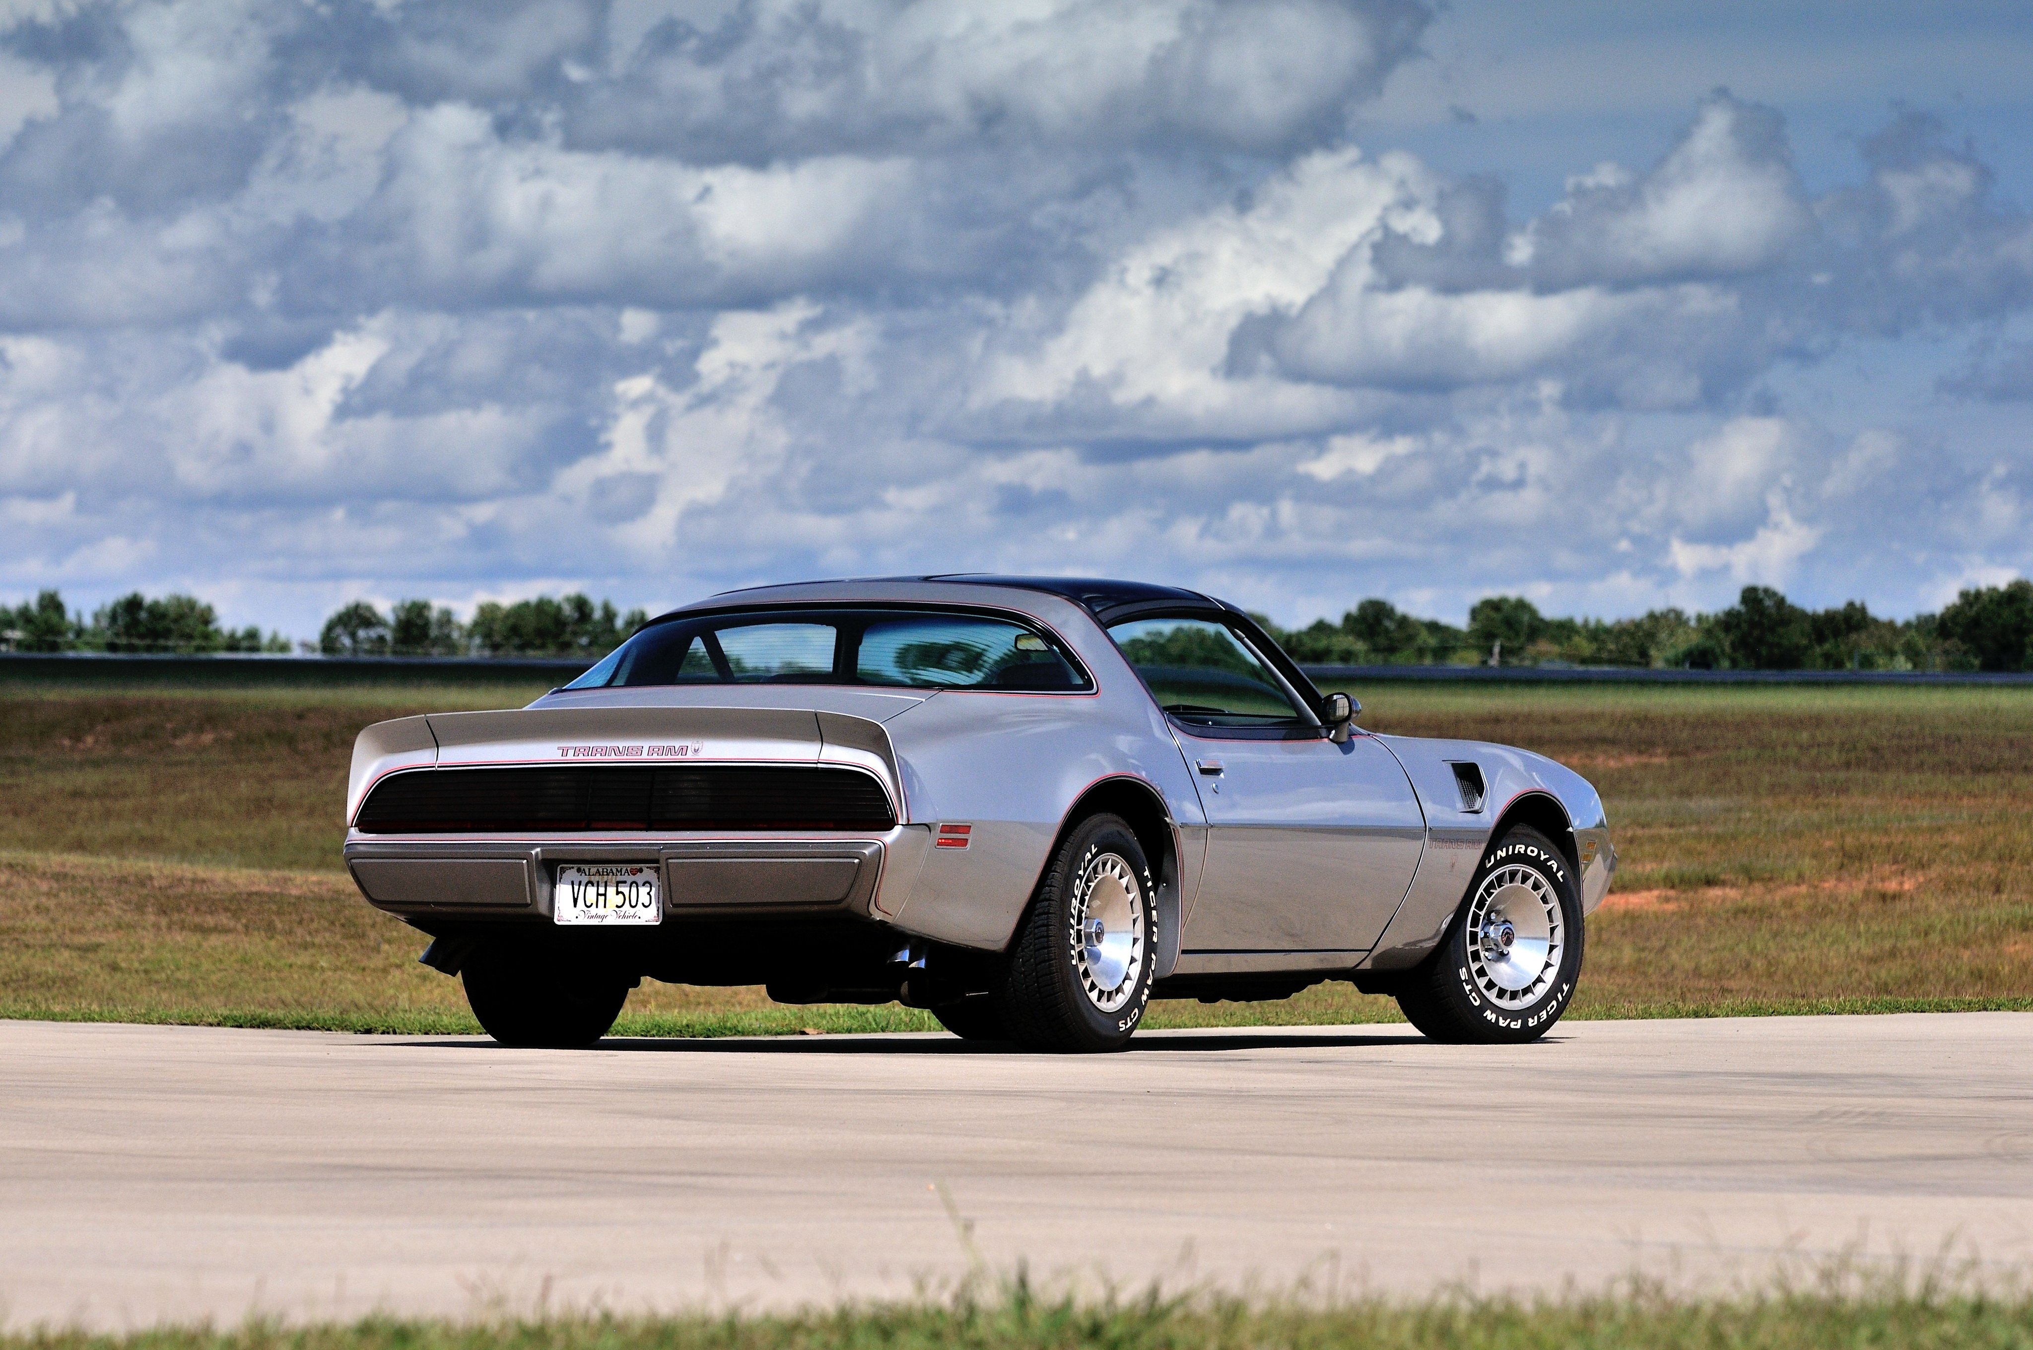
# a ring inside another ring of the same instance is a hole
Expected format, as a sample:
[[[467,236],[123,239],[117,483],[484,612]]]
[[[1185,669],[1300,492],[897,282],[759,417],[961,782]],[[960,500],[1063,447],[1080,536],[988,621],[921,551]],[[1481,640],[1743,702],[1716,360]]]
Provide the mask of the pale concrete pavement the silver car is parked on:
[[[958,1216],[958,1224],[956,1224]],[[962,1228],[968,1230],[966,1236]],[[2033,1015],[486,1041],[0,1023],[0,1317],[2033,1265]]]

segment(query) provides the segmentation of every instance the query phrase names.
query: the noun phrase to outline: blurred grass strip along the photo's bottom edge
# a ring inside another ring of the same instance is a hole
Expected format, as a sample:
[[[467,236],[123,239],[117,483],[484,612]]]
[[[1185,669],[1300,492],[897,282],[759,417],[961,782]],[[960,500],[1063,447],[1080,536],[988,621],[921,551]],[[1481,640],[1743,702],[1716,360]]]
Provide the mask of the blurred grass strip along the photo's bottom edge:
[[[1559,1297],[1423,1299],[1301,1287],[1281,1297],[1110,1289],[1080,1297],[1016,1277],[970,1281],[951,1297],[840,1303],[793,1313],[494,1311],[470,1322],[368,1317],[356,1324],[250,1320],[238,1328],[157,1326],[124,1334],[35,1328],[0,1350],[1828,1350],[2033,1344],[2033,1295],[1931,1277],[1830,1277],[1807,1287],[1673,1295],[1637,1281]]]

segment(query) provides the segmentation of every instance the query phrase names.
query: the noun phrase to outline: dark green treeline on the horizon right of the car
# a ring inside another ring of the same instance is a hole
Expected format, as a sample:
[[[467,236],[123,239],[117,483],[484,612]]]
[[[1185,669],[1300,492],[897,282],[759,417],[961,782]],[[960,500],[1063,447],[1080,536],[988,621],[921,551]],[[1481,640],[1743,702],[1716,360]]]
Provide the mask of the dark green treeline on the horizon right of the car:
[[[1468,628],[1456,628],[1364,600],[1340,622],[1271,632],[1311,665],[2033,671],[2033,581],[1966,590],[1939,614],[1909,620],[1878,618],[1856,600],[1805,610],[1769,586],[1746,586],[1716,614],[1551,618],[1521,596],[1492,596],[1468,612]]]

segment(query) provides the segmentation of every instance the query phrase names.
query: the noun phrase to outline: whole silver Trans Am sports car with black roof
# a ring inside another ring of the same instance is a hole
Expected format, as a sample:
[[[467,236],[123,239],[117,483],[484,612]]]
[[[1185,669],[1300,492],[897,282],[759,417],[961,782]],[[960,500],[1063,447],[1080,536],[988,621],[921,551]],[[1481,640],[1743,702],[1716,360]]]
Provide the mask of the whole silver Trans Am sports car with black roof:
[[[768,586],[529,708],[370,726],[346,862],[510,1045],[596,1041],[644,978],[1039,1049],[1321,980],[1435,1039],[1543,1035],[1616,870],[1602,801],[1360,712],[1195,592]]]

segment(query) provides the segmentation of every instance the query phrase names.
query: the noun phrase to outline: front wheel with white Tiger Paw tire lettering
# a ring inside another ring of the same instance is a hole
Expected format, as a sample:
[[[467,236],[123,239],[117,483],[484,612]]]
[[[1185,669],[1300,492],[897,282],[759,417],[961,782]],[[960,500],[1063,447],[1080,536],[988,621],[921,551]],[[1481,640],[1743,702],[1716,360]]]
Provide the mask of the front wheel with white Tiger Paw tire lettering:
[[[1399,986],[1399,1006],[1433,1041],[1537,1041],[1574,998],[1582,937],[1567,860],[1519,825],[1476,868],[1447,937]]]

